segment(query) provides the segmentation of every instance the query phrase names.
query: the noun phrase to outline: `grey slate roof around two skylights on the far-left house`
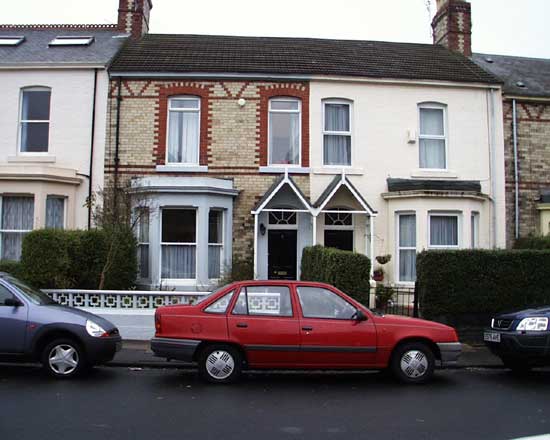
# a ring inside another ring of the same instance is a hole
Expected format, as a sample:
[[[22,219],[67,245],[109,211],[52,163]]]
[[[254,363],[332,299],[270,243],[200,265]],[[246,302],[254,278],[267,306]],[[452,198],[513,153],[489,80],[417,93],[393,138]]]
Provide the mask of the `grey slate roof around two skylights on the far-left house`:
[[[0,25],[0,37],[24,36],[17,46],[0,46],[0,67],[59,64],[109,64],[126,41],[124,33],[110,27],[95,26],[11,26]],[[49,43],[57,36],[92,36],[89,46],[56,46]]]

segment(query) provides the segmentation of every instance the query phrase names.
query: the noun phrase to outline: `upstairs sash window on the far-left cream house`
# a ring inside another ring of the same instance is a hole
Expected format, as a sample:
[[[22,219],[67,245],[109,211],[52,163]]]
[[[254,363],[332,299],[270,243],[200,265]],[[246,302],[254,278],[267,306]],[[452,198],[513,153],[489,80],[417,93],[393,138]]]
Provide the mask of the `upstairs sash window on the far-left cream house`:
[[[20,151],[47,153],[50,138],[51,90],[23,89],[21,93]]]

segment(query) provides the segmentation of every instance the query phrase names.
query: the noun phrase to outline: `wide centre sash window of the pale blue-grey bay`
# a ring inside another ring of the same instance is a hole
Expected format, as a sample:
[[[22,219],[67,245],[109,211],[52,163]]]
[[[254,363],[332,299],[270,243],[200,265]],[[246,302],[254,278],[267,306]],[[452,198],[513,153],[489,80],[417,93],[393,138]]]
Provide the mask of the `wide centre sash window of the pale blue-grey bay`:
[[[196,211],[164,208],[161,233],[161,278],[195,279],[196,250]]]

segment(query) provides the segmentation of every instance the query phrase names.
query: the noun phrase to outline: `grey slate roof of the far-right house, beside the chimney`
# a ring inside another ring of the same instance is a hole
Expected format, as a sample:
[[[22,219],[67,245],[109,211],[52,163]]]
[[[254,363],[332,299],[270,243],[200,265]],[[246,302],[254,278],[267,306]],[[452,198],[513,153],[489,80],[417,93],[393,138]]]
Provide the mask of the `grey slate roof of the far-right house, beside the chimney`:
[[[550,59],[475,53],[472,59],[503,82],[507,95],[550,97]],[[518,82],[525,87],[518,86]]]

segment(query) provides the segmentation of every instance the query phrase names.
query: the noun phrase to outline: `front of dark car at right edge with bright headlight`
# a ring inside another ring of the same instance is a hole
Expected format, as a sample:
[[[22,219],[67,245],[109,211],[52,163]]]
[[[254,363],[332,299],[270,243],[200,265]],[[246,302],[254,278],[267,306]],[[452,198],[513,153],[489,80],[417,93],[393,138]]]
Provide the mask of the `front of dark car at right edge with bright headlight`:
[[[485,344],[515,371],[550,365],[550,307],[498,315],[483,335]]]

